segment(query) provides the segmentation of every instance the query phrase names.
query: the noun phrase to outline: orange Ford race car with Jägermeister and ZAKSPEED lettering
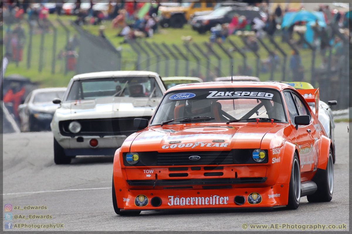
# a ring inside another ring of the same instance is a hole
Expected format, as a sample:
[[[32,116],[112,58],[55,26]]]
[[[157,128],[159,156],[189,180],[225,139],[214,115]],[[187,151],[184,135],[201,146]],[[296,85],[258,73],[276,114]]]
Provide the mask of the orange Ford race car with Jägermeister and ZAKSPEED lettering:
[[[333,145],[318,121],[319,89],[310,93],[279,82],[170,88],[115,153],[115,212],[330,201]]]

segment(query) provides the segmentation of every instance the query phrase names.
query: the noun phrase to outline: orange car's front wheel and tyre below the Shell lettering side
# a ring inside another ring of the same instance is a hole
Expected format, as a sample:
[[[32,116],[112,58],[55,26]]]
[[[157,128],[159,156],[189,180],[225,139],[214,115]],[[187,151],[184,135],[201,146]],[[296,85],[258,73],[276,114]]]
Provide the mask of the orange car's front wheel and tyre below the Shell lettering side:
[[[292,161],[291,178],[288,191],[288,209],[297,209],[301,200],[301,171],[297,154],[295,153]]]

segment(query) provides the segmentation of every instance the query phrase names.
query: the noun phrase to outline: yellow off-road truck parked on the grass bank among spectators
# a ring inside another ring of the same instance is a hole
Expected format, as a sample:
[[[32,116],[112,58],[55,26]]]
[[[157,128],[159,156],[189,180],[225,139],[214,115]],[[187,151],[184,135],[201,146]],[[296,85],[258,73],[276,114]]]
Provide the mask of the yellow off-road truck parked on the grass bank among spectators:
[[[163,28],[182,28],[194,13],[212,11],[215,1],[194,1],[179,3],[162,3],[160,25]]]

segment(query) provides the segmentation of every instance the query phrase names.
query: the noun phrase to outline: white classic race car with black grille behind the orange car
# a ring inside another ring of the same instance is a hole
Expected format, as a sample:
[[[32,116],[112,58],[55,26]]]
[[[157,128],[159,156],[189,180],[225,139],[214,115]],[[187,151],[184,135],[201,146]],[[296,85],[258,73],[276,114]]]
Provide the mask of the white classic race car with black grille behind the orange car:
[[[134,119],[150,119],[166,91],[160,76],[146,71],[75,75],[51,122],[54,161],[76,155],[113,155],[138,131]]]

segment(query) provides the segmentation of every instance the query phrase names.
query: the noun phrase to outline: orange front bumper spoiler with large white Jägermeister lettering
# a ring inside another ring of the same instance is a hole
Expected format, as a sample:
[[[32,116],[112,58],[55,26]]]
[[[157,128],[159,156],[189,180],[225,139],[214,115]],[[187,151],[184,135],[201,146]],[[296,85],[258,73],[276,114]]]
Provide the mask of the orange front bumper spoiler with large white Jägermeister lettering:
[[[287,205],[288,186],[274,185],[264,188],[233,189],[155,189],[128,190],[115,187],[116,198],[121,210],[157,210],[157,209],[197,209],[197,208],[257,208]],[[256,196],[253,194],[259,194]],[[143,195],[143,202],[139,197]],[[245,202],[238,205],[236,196],[243,196]],[[153,206],[151,199],[161,199],[160,206]],[[255,199],[254,199],[254,198]],[[146,199],[145,199],[146,198]]]

